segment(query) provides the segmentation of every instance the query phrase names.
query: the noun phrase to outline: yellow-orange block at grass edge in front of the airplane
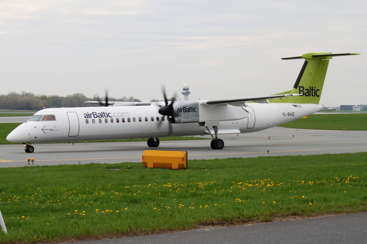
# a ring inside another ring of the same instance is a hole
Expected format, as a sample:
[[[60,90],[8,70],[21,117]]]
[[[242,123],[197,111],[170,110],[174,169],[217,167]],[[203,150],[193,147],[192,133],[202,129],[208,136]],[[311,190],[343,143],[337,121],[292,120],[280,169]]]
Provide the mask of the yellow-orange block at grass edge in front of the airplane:
[[[187,151],[144,150],[146,168],[187,169]]]

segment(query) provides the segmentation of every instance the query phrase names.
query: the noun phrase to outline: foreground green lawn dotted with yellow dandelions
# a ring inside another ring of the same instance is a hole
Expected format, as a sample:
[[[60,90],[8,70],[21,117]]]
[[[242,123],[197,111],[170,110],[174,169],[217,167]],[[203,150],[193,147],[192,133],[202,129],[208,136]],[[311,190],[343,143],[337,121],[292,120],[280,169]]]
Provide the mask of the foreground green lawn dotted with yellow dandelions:
[[[141,163],[0,168],[0,208],[8,229],[8,235],[0,232],[0,243],[363,212],[366,162],[361,152],[189,160],[188,170]]]

